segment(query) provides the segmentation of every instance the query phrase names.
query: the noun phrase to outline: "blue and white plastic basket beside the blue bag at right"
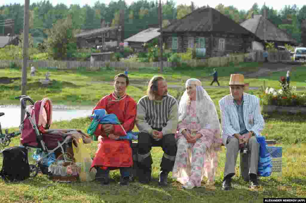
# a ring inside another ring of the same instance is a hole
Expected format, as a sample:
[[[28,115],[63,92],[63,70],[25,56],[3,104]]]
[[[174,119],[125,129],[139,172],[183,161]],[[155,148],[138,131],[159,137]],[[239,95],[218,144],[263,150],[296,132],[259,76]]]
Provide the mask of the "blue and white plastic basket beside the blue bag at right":
[[[276,175],[282,175],[282,147],[267,146],[271,154],[272,172]]]

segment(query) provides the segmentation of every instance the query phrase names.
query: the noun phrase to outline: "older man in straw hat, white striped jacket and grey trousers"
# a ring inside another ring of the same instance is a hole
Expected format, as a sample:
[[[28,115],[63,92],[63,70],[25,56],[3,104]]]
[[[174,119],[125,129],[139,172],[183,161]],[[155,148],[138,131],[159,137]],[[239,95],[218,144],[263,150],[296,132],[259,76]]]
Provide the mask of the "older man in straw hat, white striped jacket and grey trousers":
[[[251,187],[258,187],[257,172],[259,161],[259,143],[256,136],[264,127],[260,113],[259,98],[244,93],[244,76],[231,74],[230,95],[219,101],[222,119],[222,142],[226,146],[223,190],[231,188],[231,178],[235,175],[235,165],[239,143],[248,147],[248,163]]]

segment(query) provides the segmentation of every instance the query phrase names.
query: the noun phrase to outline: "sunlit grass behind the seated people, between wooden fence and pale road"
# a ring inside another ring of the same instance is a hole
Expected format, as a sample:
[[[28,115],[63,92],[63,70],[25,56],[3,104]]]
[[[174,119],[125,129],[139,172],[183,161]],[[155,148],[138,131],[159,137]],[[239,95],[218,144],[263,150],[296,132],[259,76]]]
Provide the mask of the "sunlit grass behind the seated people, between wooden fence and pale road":
[[[249,62],[232,67],[218,67],[220,85],[228,85],[230,74],[255,72],[261,66],[263,66],[263,63]],[[296,85],[297,87],[306,86],[304,82],[306,71],[304,71],[304,68],[294,68],[291,75],[291,85]],[[182,76],[199,78],[203,85],[210,85],[212,77],[209,74],[212,72],[212,69],[213,67],[182,67],[178,70],[170,71],[168,68],[163,74],[160,74],[157,69],[152,68],[129,71],[130,86],[127,89],[127,93],[136,101],[139,100],[146,92],[146,82],[154,75],[162,75],[166,78],[168,85],[181,85],[182,88],[184,88],[185,83],[185,81],[181,80]],[[44,87],[39,80],[45,78],[47,71],[51,73],[50,79],[52,83]],[[88,106],[94,105],[101,97],[113,91],[112,81],[114,75],[120,72],[115,70],[72,71],[38,68],[34,77],[30,77],[29,73],[30,70],[28,69],[26,89],[27,95],[31,96],[32,99],[41,100],[44,97],[49,97],[56,104]],[[266,86],[279,88],[279,76],[285,74],[286,72],[276,72],[265,77],[246,78],[245,82],[249,82],[250,86],[260,87],[263,85],[263,81],[265,81]],[[0,83],[0,91],[2,93],[0,104],[18,104],[19,101],[15,100],[14,97],[21,94],[21,69],[0,69],[0,75],[1,77],[17,78],[10,84]],[[177,94],[177,91],[170,89],[170,93],[174,96]],[[220,94],[223,94],[223,90]]]

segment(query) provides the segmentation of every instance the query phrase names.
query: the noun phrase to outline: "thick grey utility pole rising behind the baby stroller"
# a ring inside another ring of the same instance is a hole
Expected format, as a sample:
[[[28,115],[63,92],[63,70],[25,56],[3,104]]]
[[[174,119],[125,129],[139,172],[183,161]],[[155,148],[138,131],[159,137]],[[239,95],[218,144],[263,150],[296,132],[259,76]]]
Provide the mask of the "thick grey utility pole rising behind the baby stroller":
[[[30,0],[24,0],[21,95],[26,95],[27,92],[26,86],[27,86],[28,46],[29,46],[29,4]],[[25,111],[21,107],[20,123],[24,120],[24,114]]]

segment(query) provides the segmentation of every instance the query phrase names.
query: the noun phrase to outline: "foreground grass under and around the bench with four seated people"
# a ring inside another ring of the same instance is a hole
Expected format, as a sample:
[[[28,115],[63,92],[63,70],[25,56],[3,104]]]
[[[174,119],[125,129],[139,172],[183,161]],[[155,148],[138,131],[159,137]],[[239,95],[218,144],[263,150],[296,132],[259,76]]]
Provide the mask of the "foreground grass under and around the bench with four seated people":
[[[219,114],[218,100],[228,94],[228,89],[208,89]],[[223,170],[225,164],[225,149],[219,153],[219,164],[216,171],[215,186],[205,186],[204,178],[201,188],[183,190],[181,184],[169,175],[169,187],[162,188],[157,184],[159,164],[162,149],[153,147],[153,181],[149,185],[138,181],[128,187],[120,187],[119,170],[112,171],[112,182],[108,186],[90,183],[56,183],[39,174],[22,183],[5,183],[0,180],[0,202],[263,202],[263,198],[305,198],[306,194],[306,115],[303,114],[264,114],[266,139],[278,141],[276,146],[282,147],[282,176],[273,174],[261,177],[258,189],[248,188],[248,183],[239,177],[239,158],[237,160],[236,176],[233,178],[234,190],[222,191]],[[5,117],[5,116],[4,116]],[[0,119],[4,119],[1,117]],[[55,128],[77,128],[87,131],[89,118],[73,119],[72,121],[54,122]],[[18,130],[10,128],[9,132]],[[134,130],[137,130],[135,127]],[[10,146],[18,146],[19,138],[14,138]],[[97,142],[86,145],[91,157],[97,149]],[[32,153],[30,162],[34,163]],[[0,158],[0,167],[2,158]]]

